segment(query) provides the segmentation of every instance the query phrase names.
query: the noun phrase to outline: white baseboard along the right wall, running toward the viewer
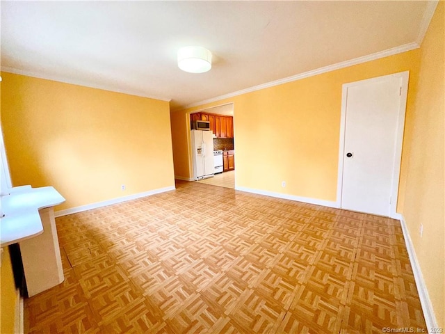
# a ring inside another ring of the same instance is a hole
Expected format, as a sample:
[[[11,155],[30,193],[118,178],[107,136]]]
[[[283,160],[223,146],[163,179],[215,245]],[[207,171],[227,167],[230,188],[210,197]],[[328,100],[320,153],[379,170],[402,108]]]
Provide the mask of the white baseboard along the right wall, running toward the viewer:
[[[431,328],[439,328],[439,326],[437,325],[434,309],[432,308],[430,296],[428,295],[428,289],[426,288],[425,285],[425,280],[423,280],[422,271],[419,265],[419,261],[417,261],[416,252],[412,244],[410,232],[408,231],[405,218],[403,217],[402,214],[399,215],[403,231],[403,238],[405,239],[405,245],[408,250],[412,271],[414,273],[414,280],[416,281],[417,291],[419,292],[419,299],[422,305],[423,316],[425,317],[428,333],[431,333],[430,332]]]

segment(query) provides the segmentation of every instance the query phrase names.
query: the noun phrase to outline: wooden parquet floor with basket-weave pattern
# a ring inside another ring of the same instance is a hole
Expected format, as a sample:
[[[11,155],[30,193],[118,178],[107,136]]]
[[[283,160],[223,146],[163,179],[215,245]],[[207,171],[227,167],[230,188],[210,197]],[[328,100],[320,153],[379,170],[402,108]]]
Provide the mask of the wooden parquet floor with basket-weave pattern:
[[[198,182],[56,218],[65,282],[27,333],[425,328],[398,221]]]

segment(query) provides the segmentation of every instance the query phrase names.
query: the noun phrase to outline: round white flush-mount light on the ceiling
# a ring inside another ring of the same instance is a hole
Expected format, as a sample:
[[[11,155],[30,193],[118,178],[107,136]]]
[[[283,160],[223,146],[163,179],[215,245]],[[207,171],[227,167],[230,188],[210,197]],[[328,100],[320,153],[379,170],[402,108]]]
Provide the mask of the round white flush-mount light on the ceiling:
[[[178,67],[189,73],[204,73],[211,69],[211,52],[204,47],[183,47],[178,51]]]

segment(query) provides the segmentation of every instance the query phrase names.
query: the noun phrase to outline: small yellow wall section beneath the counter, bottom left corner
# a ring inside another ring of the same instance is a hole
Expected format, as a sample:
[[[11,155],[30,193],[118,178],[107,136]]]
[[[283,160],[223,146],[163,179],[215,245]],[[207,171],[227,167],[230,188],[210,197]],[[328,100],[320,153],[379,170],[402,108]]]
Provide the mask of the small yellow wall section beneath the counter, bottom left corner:
[[[0,273],[0,333],[14,333],[15,283],[8,247],[3,247]]]

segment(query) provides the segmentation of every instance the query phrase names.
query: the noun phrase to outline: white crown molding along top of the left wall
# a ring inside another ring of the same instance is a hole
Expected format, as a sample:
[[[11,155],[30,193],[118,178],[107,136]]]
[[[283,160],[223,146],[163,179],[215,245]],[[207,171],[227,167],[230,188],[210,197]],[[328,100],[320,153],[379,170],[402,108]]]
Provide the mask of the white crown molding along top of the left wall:
[[[114,92],[114,93],[122,93],[122,94],[127,94],[127,95],[138,96],[138,97],[147,97],[149,99],[161,100],[161,101],[165,101],[165,102],[170,102],[172,100],[171,98],[159,97],[159,96],[154,96],[154,95],[146,95],[146,94],[138,94],[138,93],[134,93],[131,90],[116,89],[111,86],[96,85],[96,84],[91,84],[90,82],[81,81],[81,80],[72,80],[72,79],[67,80],[67,79],[65,79],[63,77],[59,77],[57,75],[47,75],[47,74],[42,74],[42,73],[38,73],[38,72],[19,70],[17,68],[13,68],[13,67],[2,66],[1,72],[26,75],[27,77],[33,77],[33,78],[38,78],[38,79],[58,81],[58,82],[62,82],[63,84],[72,84],[72,85],[83,86],[83,87],[88,87],[88,88],[102,89],[102,90],[107,90],[109,92]]]

